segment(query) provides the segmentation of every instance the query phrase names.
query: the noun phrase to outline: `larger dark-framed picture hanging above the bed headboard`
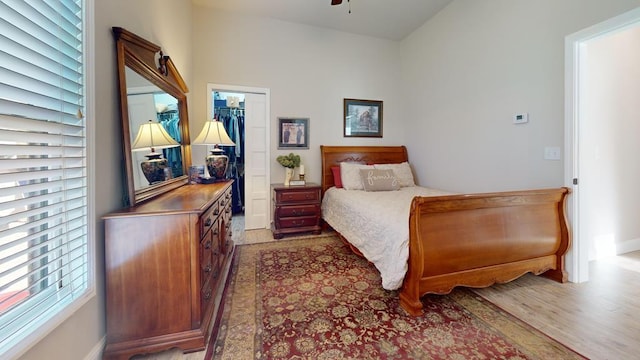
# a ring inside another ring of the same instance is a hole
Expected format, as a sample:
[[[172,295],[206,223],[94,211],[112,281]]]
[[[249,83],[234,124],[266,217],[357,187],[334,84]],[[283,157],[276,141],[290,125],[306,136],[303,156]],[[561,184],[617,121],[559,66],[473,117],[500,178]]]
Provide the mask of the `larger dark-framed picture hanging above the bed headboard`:
[[[344,137],[382,137],[382,101],[344,99]]]

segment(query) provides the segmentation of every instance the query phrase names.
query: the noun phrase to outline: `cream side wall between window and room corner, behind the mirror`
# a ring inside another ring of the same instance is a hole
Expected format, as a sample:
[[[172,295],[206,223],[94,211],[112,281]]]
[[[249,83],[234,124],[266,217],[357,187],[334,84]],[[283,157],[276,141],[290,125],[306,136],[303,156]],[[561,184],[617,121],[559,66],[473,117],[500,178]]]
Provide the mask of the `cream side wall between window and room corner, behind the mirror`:
[[[123,206],[124,187],[115,41],[112,26],[120,26],[161,45],[187,84],[191,72],[191,2],[189,0],[94,0],[95,4],[95,192],[98,295],[31,348],[21,359],[83,359],[96,355],[105,335],[104,226],[101,217]],[[91,41],[91,40],[89,40]],[[92,353],[92,351],[94,351]]]

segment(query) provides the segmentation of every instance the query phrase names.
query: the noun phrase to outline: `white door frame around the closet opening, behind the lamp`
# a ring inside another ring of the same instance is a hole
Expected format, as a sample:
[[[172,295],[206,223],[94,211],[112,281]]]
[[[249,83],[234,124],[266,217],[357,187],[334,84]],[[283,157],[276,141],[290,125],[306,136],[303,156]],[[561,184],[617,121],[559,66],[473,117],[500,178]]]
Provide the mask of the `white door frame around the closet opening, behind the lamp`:
[[[211,114],[213,114],[213,108],[212,108],[212,103],[213,103],[213,97],[212,97],[212,93],[214,91],[218,91],[218,92],[230,92],[230,93],[239,93],[239,94],[259,94],[259,95],[264,95],[265,96],[265,119],[266,119],[266,131],[265,131],[265,136],[266,138],[264,139],[264,144],[266,146],[265,150],[265,163],[264,164],[264,168],[265,168],[265,183],[264,188],[265,189],[269,189],[271,187],[270,184],[270,180],[271,179],[271,166],[269,166],[270,164],[268,163],[269,159],[271,159],[271,143],[270,143],[270,134],[271,134],[271,117],[269,116],[271,113],[271,109],[270,109],[270,104],[271,104],[271,95],[270,95],[270,90],[268,88],[259,88],[259,87],[251,87],[251,86],[241,86],[241,85],[225,85],[225,84],[212,84],[212,83],[207,83],[207,116],[210,116]],[[246,163],[246,160],[245,160]],[[246,168],[245,168],[246,171]],[[245,176],[245,181],[246,181],[247,177]],[[246,186],[245,186],[246,188]],[[271,207],[271,204],[269,203],[269,201],[266,202],[266,209],[265,210],[265,214],[269,214],[269,209]],[[266,224],[264,224],[264,228],[265,229],[269,229],[270,228],[270,224],[269,224],[269,217],[267,217],[266,220]],[[244,230],[244,229],[243,229]]]

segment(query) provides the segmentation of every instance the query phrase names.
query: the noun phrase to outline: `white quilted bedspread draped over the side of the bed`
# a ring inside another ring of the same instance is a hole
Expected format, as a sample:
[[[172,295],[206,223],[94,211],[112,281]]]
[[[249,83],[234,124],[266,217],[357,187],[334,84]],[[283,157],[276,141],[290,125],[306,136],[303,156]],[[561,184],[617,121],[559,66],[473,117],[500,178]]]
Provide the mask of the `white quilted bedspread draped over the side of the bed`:
[[[378,268],[382,287],[395,290],[407,272],[411,200],[450,194],[418,186],[376,192],[332,187],[322,199],[322,217]]]

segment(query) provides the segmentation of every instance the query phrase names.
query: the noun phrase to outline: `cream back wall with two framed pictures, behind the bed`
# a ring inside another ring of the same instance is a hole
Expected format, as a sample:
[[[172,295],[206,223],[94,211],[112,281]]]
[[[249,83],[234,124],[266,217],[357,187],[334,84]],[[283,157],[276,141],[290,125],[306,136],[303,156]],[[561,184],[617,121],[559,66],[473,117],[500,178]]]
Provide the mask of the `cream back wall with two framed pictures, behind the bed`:
[[[398,42],[198,6],[193,42],[192,129],[208,117],[207,83],[270,89],[271,182],[284,180],[275,158],[291,152],[277,150],[278,117],[310,119],[309,150],[293,152],[312,182],[320,182],[320,145],[404,143]],[[384,137],[344,138],[343,98],[383,100]],[[202,164],[204,147],[192,151]]]

